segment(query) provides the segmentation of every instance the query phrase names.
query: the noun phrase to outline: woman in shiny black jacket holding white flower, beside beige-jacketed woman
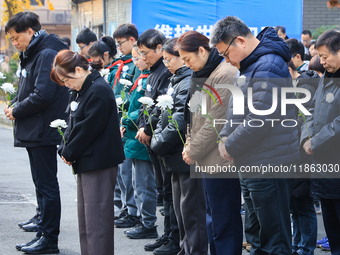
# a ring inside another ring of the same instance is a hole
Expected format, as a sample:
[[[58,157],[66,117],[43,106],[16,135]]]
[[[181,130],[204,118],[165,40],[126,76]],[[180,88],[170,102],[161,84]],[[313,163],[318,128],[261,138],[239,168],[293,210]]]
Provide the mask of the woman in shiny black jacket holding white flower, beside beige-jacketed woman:
[[[202,179],[190,178],[190,166],[182,160],[187,126],[184,109],[192,70],[184,65],[176,42],[177,38],[170,39],[162,48],[163,62],[173,76],[167,94],[157,99],[162,113],[155,138],[151,140],[151,149],[164,159],[165,170],[171,173],[173,208],[170,210],[170,219],[174,213],[177,222],[171,223],[177,224],[179,230],[175,228],[169,236],[169,242],[155,251],[166,250],[168,246],[180,246],[178,254],[203,255],[208,252],[208,237]],[[177,233],[173,233],[175,231]],[[179,238],[175,234],[179,234]]]

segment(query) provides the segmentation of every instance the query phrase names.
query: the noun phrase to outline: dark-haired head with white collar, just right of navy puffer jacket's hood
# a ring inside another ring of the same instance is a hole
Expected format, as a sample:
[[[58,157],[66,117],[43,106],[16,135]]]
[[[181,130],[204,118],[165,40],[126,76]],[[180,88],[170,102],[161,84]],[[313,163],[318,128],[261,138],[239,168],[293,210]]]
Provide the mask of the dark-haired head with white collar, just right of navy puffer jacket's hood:
[[[302,42],[295,38],[292,38],[288,39],[286,43],[289,47],[291,59],[295,65],[296,71],[298,72],[307,71],[309,61],[303,61],[305,57],[305,52]]]

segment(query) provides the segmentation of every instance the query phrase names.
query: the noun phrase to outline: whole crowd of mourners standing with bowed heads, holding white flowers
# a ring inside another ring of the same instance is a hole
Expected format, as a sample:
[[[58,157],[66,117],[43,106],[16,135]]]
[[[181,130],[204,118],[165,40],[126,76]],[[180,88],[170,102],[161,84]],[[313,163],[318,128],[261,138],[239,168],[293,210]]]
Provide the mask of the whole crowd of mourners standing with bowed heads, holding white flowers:
[[[112,37],[81,30],[79,52],[43,30],[33,12],[14,15],[5,32],[21,68],[5,115],[15,123],[14,146],[27,150],[38,204],[19,223],[36,236],[17,250],[60,252],[60,157],[76,176],[82,255],[114,254],[114,228],[154,239],[146,254],[312,255],[316,247],[340,254],[340,180],[327,175],[340,164],[339,31],[313,40],[304,30],[295,39],[277,26],[254,36],[228,16],[210,39],[196,31],[166,39],[121,24]],[[283,114],[285,89],[298,91],[288,99],[299,107]],[[296,125],[283,125],[287,119]],[[213,166],[237,174],[207,170]],[[263,166],[326,171],[315,178],[240,171]],[[321,208],[327,236],[317,240]]]

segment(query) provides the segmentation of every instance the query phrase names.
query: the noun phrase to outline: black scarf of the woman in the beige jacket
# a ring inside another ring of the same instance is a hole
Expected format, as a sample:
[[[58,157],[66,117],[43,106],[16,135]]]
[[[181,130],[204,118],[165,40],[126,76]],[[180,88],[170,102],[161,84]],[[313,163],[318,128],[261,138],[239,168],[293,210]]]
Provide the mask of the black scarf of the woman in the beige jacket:
[[[191,75],[190,81],[190,93],[187,96],[185,102],[185,109],[184,109],[184,119],[190,123],[190,111],[188,103],[191,99],[191,96],[195,93],[196,90],[202,88],[205,81],[209,78],[210,74],[216,69],[216,67],[221,64],[223,57],[218,54],[216,48],[213,48],[209,54],[207,63],[197,72],[193,72]],[[199,79],[198,79],[199,78]]]

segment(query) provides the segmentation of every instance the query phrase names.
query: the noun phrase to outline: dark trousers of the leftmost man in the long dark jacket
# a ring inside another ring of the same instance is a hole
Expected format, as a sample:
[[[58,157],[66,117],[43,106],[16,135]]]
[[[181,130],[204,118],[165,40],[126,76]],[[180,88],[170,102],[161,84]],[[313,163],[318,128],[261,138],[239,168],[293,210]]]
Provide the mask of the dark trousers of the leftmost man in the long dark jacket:
[[[52,242],[58,242],[60,231],[60,193],[57,179],[56,146],[26,148],[37,195],[41,220],[37,236],[42,234]]]

